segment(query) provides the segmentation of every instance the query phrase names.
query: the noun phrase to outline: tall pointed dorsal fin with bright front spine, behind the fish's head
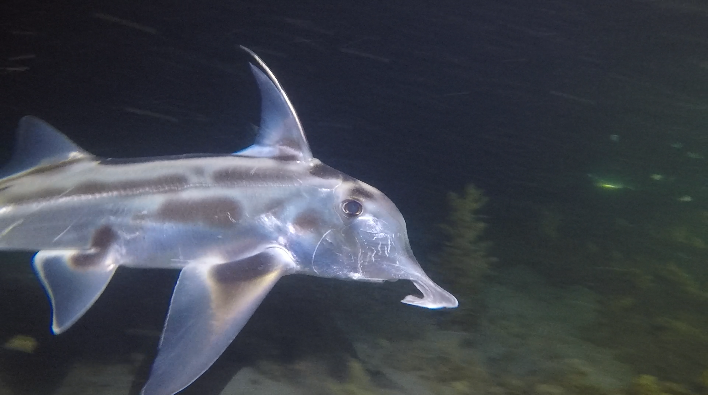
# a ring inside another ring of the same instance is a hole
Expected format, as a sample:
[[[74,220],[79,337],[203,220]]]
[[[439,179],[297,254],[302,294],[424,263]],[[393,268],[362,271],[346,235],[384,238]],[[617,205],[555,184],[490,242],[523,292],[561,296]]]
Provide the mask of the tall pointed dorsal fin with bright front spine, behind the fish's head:
[[[235,154],[309,161],[312,159],[312,151],[307,144],[302,124],[278,79],[275,79],[273,72],[258,55],[246,47],[241,46],[241,48],[256,59],[265,73],[251,64],[251,71],[253,76],[256,76],[258,88],[261,89],[261,127],[256,142]]]

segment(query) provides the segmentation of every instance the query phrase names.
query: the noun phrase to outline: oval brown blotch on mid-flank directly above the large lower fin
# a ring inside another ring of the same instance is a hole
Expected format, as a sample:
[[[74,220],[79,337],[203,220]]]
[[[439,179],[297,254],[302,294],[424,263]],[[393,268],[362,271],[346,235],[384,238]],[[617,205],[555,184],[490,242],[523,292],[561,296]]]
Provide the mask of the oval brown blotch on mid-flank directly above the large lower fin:
[[[155,217],[172,222],[196,222],[214,227],[230,227],[239,222],[241,205],[229,197],[170,199],[157,209]]]

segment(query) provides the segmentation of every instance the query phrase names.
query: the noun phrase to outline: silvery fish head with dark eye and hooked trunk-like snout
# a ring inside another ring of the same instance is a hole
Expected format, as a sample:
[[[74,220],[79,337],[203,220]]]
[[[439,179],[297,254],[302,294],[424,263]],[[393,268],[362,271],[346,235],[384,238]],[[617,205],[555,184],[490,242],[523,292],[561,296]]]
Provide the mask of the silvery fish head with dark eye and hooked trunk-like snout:
[[[343,175],[329,195],[328,208],[307,269],[319,277],[382,282],[411,280],[423,297],[401,302],[439,309],[457,307],[457,299],[430,280],[413,256],[406,222],[381,191]]]

